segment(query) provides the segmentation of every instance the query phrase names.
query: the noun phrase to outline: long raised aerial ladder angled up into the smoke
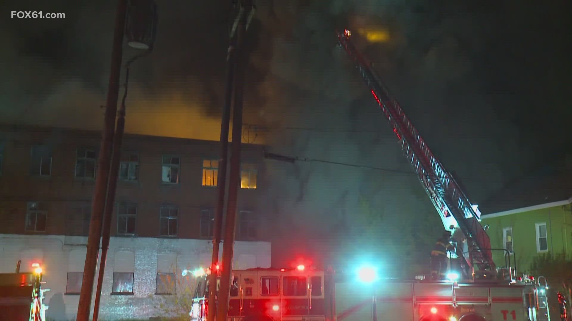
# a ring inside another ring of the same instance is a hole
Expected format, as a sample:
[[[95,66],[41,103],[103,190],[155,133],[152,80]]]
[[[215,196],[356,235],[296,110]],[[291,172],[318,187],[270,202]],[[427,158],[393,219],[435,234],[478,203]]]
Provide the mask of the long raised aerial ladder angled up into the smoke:
[[[391,97],[371,63],[356,49],[350,37],[351,31],[347,29],[343,33],[337,32],[339,45],[349,55],[378,102],[403,153],[439,213],[443,226],[450,231],[460,230],[466,239],[467,251],[463,253],[463,266],[469,268],[467,272],[470,272],[472,277],[475,273],[484,276],[487,272],[494,273],[495,264],[492,262],[491,243],[480,224],[478,207],[469,202],[459,184],[455,182],[454,176],[433,155],[399,103]]]

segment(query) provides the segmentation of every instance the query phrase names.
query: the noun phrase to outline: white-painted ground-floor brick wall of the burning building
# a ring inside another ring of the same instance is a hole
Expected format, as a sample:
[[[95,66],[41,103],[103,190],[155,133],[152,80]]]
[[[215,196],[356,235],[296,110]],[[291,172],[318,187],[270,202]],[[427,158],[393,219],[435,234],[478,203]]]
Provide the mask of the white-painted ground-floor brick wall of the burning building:
[[[83,266],[81,261],[85,259],[85,244],[86,238],[82,236],[0,234],[0,273],[13,272],[19,259],[22,260],[22,271],[25,271],[32,261],[41,263],[45,271],[45,288],[50,289],[45,293],[45,303],[49,306],[46,316],[58,321],[73,319],[77,312],[79,295],[66,294],[67,274],[81,272],[77,271],[77,267]],[[78,256],[77,251],[81,251],[83,256]],[[133,294],[112,294],[114,258],[120,251],[134,253]],[[194,270],[208,266],[211,251],[212,246],[208,240],[112,238],[106,261],[100,318],[148,319],[162,315],[162,310],[157,308],[158,304],[169,299],[169,295],[155,294],[157,255],[166,252],[175,254],[177,278],[182,278],[181,271],[184,269]],[[234,268],[270,267],[270,255],[269,242],[237,241]],[[72,262],[74,260],[76,262]],[[194,278],[190,276],[182,278],[180,286],[188,287],[192,291],[194,283]],[[181,288],[178,287],[176,291],[181,291]]]

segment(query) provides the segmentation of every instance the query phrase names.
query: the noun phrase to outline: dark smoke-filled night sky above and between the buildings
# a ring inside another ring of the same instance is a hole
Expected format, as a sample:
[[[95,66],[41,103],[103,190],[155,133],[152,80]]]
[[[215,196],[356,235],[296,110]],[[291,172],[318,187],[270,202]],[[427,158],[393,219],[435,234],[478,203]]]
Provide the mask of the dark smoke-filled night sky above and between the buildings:
[[[100,129],[114,5],[21,0],[0,19],[0,119]],[[156,49],[133,67],[130,133],[218,139],[228,1],[157,1]],[[363,164],[268,162],[261,207],[301,234],[380,216],[438,216],[335,30],[359,41],[378,73],[472,202],[570,153],[569,1],[257,1],[249,29],[245,140],[277,154]],[[10,19],[12,10],[65,19]],[[359,34],[355,32],[355,34]],[[126,49],[124,58],[133,55]],[[403,220],[403,219],[402,219]],[[301,223],[301,222],[304,223]],[[324,223],[324,221],[326,223]],[[293,224],[293,226],[292,226]]]

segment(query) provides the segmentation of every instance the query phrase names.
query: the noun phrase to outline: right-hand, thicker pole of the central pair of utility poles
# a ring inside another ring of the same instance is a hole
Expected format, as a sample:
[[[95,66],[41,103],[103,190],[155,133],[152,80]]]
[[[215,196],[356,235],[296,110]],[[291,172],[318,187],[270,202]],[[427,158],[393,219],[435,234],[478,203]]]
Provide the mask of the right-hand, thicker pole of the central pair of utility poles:
[[[241,0],[239,21],[236,36],[236,82],[234,113],[232,118],[232,151],[231,168],[229,173],[227,219],[223,243],[223,262],[221,267],[219,302],[217,304],[217,321],[227,320],[228,300],[231,291],[232,260],[235,243],[236,200],[240,184],[240,148],[243,123],[244,72],[247,65],[247,55],[244,50],[244,37],[248,19],[252,18],[254,6],[252,0]],[[248,14],[248,18],[247,18]],[[216,283],[213,284],[216,287]]]

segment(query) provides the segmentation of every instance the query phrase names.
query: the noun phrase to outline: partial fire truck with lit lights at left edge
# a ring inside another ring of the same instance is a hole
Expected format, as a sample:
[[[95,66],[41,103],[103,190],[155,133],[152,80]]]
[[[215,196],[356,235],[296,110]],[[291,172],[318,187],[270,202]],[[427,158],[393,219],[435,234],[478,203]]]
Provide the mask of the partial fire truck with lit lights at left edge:
[[[0,274],[0,321],[45,321],[47,307],[43,304],[42,267],[32,264],[33,272]]]

